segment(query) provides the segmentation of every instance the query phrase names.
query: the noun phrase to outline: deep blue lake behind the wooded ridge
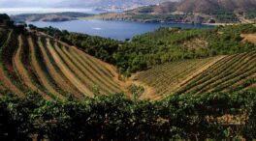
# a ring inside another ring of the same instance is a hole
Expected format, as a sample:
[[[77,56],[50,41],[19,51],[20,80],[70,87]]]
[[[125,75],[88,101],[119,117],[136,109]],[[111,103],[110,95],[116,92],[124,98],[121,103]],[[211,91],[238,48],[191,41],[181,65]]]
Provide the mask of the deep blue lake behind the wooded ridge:
[[[154,31],[160,27],[181,27],[181,28],[212,28],[212,26],[188,23],[139,23],[130,21],[106,21],[106,20],[73,20],[65,22],[31,22],[38,27],[56,27],[71,32],[79,32],[93,36],[111,38],[124,41],[136,35]]]

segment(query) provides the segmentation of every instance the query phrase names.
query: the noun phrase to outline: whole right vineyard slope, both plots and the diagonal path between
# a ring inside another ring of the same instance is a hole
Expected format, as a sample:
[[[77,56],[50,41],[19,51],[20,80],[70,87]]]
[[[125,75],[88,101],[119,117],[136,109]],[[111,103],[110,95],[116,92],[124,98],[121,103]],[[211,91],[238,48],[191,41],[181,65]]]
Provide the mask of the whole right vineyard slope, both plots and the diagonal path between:
[[[140,72],[135,79],[155,90],[151,99],[255,89],[256,51],[169,63]]]

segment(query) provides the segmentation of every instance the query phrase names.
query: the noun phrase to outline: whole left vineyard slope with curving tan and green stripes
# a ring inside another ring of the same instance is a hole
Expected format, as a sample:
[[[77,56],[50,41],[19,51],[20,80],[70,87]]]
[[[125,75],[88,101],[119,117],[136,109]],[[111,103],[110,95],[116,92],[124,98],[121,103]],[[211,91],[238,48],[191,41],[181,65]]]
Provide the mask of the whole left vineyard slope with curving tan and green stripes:
[[[16,34],[4,28],[0,33],[0,94],[11,91],[24,96],[35,91],[45,99],[62,99],[69,94],[81,99],[96,92],[125,91],[111,65],[75,46],[42,34]]]

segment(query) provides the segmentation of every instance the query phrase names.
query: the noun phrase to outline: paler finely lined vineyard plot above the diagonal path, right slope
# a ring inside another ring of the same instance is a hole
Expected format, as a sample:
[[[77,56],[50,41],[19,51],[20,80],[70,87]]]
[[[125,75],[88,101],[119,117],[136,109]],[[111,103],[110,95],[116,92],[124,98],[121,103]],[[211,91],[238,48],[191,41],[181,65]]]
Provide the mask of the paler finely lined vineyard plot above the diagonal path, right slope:
[[[148,71],[142,71],[135,76],[135,79],[144,82],[155,89],[155,99],[174,93],[180,83],[189,77],[208,68],[211,64],[222,57],[212,57],[208,59],[186,60],[167,63],[153,67]]]

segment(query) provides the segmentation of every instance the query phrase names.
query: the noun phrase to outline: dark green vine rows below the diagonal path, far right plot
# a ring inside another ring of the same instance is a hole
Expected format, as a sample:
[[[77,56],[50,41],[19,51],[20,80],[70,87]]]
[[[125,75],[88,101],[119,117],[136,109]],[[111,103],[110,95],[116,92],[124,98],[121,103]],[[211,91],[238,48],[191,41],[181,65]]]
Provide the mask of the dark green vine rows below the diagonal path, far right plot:
[[[192,78],[177,94],[233,92],[254,89],[256,84],[256,51],[228,56]]]

